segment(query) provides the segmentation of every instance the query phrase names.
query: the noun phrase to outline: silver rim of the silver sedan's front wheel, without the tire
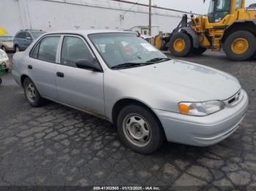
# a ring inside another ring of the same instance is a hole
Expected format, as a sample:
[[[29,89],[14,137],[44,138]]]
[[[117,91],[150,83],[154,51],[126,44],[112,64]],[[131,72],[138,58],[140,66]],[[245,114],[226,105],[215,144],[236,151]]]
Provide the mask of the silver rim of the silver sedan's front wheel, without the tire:
[[[145,147],[151,141],[151,127],[138,114],[129,114],[123,123],[124,135],[137,147]]]

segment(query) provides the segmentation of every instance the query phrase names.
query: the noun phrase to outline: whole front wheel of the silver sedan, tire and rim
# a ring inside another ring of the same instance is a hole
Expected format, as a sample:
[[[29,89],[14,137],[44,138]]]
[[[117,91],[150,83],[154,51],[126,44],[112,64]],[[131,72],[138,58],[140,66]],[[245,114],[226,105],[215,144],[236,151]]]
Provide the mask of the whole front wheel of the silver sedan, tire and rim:
[[[141,154],[156,151],[165,140],[162,126],[154,114],[139,105],[125,106],[121,110],[117,118],[117,128],[121,142]],[[138,141],[139,139],[134,139],[132,135],[143,139]]]

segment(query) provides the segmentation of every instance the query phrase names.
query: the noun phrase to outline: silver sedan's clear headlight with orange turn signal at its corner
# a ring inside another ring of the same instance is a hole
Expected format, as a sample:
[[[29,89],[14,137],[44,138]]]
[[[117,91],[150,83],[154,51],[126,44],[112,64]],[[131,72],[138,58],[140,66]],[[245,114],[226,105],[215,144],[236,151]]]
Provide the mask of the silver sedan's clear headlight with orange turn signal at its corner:
[[[178,104],[178,109],[181,114],[193,116],[206,116],[224,108],[225,104],[222,101],[181,102]]]

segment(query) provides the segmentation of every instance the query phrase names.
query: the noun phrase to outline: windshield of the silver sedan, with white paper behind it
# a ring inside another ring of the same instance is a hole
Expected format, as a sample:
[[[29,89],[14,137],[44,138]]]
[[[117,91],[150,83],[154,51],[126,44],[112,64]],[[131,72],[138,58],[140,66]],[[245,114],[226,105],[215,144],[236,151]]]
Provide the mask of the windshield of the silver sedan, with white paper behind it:
[[[130,66],[134,66],[131,63],[159,63],[167,59],[166,55],[134,34],[91,34],[89,39],[110,68],[125,63]]]

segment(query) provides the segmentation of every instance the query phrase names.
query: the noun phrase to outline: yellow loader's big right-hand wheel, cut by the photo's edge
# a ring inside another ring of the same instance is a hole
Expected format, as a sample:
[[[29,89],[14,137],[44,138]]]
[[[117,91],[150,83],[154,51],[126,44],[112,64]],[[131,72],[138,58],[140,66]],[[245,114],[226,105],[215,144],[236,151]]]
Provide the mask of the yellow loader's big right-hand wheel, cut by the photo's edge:
[[[241,44],[240,47],[238,43]],[[256,52],[256,37],[249,31],[236,31],[227,37],[224,51],[230,60],[246,61]]]

